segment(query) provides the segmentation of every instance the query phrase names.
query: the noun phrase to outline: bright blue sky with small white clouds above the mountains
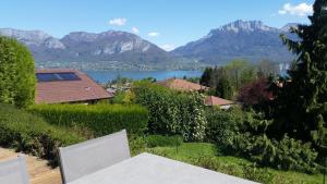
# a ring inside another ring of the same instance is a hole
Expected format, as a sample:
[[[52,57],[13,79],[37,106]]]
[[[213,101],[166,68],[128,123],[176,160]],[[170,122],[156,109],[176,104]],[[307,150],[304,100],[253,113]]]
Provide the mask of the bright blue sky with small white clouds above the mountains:
[[[0,0],[0,28],[134,33],[171,50],[227,23],[263,21],[272,27],[308,23],[314,0]]]

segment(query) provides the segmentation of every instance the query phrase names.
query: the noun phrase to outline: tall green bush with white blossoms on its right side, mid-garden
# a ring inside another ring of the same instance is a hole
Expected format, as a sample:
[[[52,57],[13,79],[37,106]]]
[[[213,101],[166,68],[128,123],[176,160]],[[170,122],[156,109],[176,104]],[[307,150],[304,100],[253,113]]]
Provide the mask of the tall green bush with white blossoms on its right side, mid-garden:
[[[135,100],[149,110],[148,130],[153,134],[182,135],[185,140],[202,140],[206,119],[203,97],[150,84],[136,83]]]

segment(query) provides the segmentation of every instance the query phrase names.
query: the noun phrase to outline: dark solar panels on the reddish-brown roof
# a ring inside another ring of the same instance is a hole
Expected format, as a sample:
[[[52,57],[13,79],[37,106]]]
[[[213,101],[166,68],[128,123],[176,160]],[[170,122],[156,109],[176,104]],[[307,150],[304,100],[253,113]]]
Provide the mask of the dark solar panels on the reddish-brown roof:
[[[57,81],[80,81],[81,78],[73,72],[65,73],[37,73],[38,82],[57,82]]]

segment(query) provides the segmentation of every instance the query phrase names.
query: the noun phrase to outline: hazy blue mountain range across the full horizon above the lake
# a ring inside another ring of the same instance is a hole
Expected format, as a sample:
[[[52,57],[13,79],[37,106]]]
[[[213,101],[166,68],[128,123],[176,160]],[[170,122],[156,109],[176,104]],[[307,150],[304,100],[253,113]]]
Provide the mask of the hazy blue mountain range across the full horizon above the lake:
[[[235,21],[170,52],[137,35],[118,30],[74,32],[60,39],[41,30],[13,28],[0,28],[0,35],[26,45],[37,68],[190,70],[220,65],[233,59],[291,61],[293,56],[279,38],[280,34],[291,36],[291,26],[294,24],[275,28],[259,21]]]

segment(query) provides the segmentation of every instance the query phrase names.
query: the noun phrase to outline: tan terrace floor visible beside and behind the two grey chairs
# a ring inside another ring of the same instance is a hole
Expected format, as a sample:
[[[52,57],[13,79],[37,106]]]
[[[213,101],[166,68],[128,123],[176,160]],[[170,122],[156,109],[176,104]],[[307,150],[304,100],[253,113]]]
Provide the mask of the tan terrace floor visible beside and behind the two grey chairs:
[[[0,147],[0,161],[17,157],[19,152]],[[31,184],[61,184],[59,168],[51,169],[46,160],[26,156]]]

